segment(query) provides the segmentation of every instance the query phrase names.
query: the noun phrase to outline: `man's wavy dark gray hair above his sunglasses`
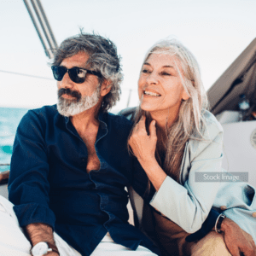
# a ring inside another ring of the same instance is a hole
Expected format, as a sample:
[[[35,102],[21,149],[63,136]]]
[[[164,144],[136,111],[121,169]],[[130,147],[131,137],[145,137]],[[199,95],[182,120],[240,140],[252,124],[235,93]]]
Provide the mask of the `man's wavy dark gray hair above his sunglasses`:
[[[90,55],[87,63],[96,72],[102,73],[100,84],[107,79],[111,82],[111,90],[103,98],[102,110],[107,111],[119,101],[121,93],[120,84],[123,80],[123,73],[120,67],[120,56],[117,54],[115,44],[108,38],[103,38],[95,33],[84,33],[65,39],[58,49],[55,49],[55,56],[52,66],[59,66],[64,59],[85,52]]]

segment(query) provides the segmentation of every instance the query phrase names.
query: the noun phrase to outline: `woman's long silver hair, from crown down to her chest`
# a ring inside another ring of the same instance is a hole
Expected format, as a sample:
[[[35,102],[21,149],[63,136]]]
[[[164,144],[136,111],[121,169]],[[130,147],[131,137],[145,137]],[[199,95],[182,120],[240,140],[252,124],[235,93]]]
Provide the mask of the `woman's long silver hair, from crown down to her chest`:
[[[189,95],[189,99],[182,101],[177,120],[171,127],[166,124],[167,142],[165,145],[166,154],[163,158],[156,149],[156,158],[166,174],[177,180],[180,166],[183,159],[185,144],[189,139],[203,139],[203,131],[206,128],[204,120],[204,109],[208,108],[207,93],[201,81],[200,68],[195,56],[176,39],[164,39],[154,44],[147,52],[145,61],[152,54],[172,55],[180,62],[182,70],[177,65],[177,72],[183,83],[183,88]],[[183,74],[183,75],[182,75]],[[147,117],[146,124],[150,124],[149,113],[144,112],[140,106],[135,115],[135,124],[142,115]],[[148,127],[147,127],[148,129]]]

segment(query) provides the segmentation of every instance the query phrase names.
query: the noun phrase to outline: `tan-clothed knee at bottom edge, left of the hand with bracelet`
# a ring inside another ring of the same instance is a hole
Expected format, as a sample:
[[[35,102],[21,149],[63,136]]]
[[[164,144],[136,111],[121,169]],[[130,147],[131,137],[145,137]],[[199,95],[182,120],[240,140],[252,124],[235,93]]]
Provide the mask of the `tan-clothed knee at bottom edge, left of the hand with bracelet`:
[[[222,234],[215,231],[195,243],[191,249],[192,256],[231,256]]]

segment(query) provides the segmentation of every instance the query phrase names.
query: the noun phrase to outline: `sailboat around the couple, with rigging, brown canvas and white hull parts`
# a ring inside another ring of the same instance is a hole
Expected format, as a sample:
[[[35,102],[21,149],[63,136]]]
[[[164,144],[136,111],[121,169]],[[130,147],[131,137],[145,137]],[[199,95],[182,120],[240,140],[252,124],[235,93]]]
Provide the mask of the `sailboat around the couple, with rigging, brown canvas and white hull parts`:
[[[53,32],[39,0],[31,0],[32,7],[24,0],[26,9],[51,58],[51,49],[57,47]],[[38,22],[32,14],[38,15]],[[41,30],[40,27],[41,26]],[[49,44],[47,47],[46,44]],[[207,91],[210,111],[224,127],[223,167],[229,172],[247,173],[247,181],[256,187],[256,120],[237,122],[239,96],[245,94],[250,102],[247,118],[256,110],[256,38],[239,55]],[[132,118],[135,108],[125,108],[120,113]],[[8,197],[9,171],[0,172],[0,195]]]

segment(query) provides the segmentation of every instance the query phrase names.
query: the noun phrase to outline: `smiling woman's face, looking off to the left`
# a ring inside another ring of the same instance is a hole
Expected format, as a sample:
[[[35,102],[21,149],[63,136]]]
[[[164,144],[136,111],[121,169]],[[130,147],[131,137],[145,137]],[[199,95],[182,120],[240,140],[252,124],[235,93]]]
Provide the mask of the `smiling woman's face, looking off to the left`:
[[[177,67],[183,76],[176,56],[155,53],[149,55],[138,80],[138,94],[144,111],[178,113],[182,100],[189,99]]]

